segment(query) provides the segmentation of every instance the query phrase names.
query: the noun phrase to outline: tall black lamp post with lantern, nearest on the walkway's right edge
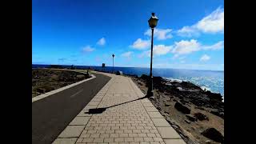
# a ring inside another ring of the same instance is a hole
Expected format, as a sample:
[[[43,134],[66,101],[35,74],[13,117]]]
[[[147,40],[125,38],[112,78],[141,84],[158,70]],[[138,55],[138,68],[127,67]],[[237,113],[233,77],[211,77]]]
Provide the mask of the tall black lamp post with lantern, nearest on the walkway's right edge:
[[[153,58],[153,37],[154,37],[154,27],[158,24],[158,18],[152,13],[151,18],[148,20],[149,26],[152,30],[152,37],[151,37],[151,57],[150,57],[150,85],[147,90],[147,96],[153,96],[153,75],[152,75],[152,58]]]

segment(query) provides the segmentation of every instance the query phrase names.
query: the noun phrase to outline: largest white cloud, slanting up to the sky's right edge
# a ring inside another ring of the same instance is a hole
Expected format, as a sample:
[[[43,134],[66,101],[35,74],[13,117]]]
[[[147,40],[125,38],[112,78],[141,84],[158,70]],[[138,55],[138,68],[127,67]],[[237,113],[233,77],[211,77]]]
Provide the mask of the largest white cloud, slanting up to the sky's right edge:
[[[177,33],[183,37],[198,36],[199,32],[215,34],[224,32],[224,9],[218,7],[193,26],[184,26]]]

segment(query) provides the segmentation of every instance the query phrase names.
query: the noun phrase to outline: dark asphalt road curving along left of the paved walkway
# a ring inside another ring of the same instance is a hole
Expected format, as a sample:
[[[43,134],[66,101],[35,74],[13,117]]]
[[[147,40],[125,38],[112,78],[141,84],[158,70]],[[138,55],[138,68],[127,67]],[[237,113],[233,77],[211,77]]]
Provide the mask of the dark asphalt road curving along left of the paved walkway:
[[[32,143],[50,144],[110,80],[102,74],[57,94],[32,102]]]

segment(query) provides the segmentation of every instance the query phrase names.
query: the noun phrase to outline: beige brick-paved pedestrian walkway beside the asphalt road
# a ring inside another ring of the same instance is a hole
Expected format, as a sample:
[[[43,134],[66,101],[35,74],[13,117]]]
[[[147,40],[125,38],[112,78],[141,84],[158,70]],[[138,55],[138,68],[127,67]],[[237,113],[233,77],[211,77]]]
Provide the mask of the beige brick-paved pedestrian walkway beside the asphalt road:
[[[186,144],[147,98],[133,101],[145,95],[130,78],[106,75],[111,77],[110,81],[58,135],[54,144]],[[89,109],[108,106],[112,107],[101,114],[85,114]]]

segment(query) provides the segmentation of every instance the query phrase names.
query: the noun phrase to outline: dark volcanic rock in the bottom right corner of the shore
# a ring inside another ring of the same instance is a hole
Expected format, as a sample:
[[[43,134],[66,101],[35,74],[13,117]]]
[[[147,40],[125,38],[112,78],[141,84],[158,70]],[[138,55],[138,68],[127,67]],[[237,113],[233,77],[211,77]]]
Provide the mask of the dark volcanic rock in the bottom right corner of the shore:
[[[223,135],[216,129],[214,128],[209,128],[206,129],[202,132],[202,135],[205,136],[206,138],[210,138],[214,140],[215,142],[224,142],[224,137]]]

